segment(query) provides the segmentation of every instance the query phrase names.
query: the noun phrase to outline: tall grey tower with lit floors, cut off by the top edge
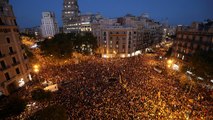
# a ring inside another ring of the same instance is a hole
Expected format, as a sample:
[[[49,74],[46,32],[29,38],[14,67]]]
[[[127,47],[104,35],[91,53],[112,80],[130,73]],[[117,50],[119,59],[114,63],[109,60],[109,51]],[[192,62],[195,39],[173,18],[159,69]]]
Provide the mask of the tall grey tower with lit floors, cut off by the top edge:
[[[62,20],[64,33],[80,31],[80,11],[77,0],[64,0]]]

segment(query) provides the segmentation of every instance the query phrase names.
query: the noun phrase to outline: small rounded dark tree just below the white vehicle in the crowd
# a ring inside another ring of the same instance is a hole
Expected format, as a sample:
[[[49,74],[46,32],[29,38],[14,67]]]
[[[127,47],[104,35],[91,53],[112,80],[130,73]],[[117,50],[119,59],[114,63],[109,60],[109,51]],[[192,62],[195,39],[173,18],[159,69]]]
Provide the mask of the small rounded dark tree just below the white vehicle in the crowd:
[[[37,88],[31,92],[32,99],[36,101],[43,101],[51,99],[51,92],[44,91],[41,88]]]

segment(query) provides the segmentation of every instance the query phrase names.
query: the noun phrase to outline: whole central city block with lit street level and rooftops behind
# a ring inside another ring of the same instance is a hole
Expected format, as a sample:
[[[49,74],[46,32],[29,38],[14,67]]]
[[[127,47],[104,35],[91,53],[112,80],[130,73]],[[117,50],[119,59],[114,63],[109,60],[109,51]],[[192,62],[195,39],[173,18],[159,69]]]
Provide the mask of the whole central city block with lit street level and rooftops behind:
[[[128,14],[92,23],[92,33],[102,57],[131,57],[160,43],[163,32],[160,23]]]

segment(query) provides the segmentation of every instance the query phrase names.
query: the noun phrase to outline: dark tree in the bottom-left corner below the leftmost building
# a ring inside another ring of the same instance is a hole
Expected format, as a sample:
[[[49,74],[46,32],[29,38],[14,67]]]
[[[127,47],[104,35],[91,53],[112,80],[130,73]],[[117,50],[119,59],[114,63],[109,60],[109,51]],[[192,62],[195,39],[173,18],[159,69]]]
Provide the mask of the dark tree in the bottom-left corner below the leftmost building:
[[[0,109],[0,119],[10,117],[13,115],[19,115],[26,108],[27,102],[18,97],[12,96],[9,98],[9,102],[3,106],[3,109]]]

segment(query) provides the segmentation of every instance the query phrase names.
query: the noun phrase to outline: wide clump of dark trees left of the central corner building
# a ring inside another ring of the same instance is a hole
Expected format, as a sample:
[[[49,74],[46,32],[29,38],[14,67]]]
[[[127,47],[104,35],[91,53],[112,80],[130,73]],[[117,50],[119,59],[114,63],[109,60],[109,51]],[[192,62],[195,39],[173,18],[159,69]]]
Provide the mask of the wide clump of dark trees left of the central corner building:
[[[92,33],[57,34],[40,43],[40,48],[45,55],[62,58],[70,57],[75,51],[90,54],[96,50],[97,41]]]

